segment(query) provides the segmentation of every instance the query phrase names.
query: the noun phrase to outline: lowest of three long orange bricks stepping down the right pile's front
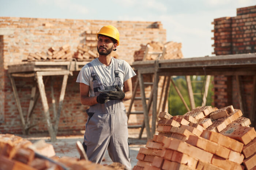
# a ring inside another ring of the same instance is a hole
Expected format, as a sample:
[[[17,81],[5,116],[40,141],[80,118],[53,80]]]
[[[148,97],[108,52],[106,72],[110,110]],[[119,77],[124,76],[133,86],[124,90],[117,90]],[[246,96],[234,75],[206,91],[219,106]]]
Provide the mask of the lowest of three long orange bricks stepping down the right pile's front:
[[[211,162],[212,155],[202,149],[195,146],[189,145],[188,143],[173,139],[170,143],[169,149],[179,151],[181,153],[187,154],[193,158],[199,159],[204,162]]]

